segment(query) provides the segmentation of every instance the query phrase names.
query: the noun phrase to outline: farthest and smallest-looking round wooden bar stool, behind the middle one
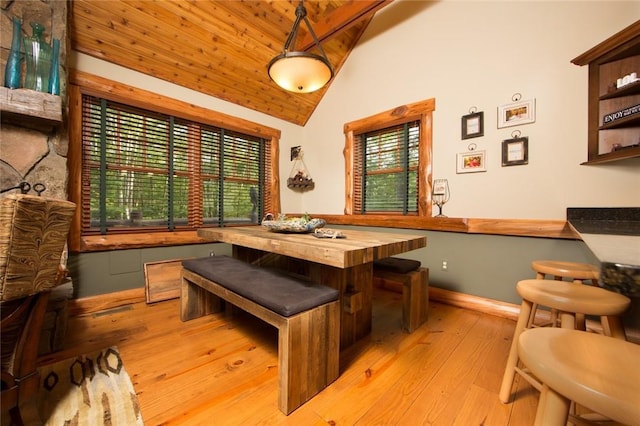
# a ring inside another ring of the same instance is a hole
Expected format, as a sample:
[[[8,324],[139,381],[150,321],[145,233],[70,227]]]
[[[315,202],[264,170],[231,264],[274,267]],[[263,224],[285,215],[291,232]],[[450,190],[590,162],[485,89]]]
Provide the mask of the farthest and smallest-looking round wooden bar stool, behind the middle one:
[[[563,281],[569,279],[576,284],[592,284],[598,285],[600,271],[594,265],[589,263],[567,262],[561,260],[534,260],[531,262],[531,269],[536,272],[536,278],[545,279],[547,276],[553,277],[555,281]],[[533,306],[533,315],[531,323],[527,327],[534,326],[535,314],[538,310],[536,305]],[[551,310],[551,324],[555,324],[558,315],[555,310]],[[584,316],[579,315],[577,318],[578,329],[584,330]],[[548,324],[544,324],[548,325]]]

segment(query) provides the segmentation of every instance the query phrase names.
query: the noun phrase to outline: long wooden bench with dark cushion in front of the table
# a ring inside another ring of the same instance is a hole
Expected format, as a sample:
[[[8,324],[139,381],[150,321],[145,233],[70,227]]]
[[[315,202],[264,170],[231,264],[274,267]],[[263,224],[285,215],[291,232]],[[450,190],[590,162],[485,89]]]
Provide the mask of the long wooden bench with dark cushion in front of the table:
[[[227,256],[183,261],[180,318],[225,300],[278,329],[278,406],[289,414],[339,374],[338,291]]]

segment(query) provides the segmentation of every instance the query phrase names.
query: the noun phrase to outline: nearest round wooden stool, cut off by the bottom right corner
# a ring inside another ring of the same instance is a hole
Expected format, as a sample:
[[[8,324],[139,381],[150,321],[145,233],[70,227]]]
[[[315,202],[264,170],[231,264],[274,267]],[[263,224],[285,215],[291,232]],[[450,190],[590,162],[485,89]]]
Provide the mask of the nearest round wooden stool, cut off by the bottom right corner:
[[[576,330],[537,328],[520,335],[518,352],[543,383],[536,425],[565,424],[570,401],[624,424],[638,423],[640,345]]]

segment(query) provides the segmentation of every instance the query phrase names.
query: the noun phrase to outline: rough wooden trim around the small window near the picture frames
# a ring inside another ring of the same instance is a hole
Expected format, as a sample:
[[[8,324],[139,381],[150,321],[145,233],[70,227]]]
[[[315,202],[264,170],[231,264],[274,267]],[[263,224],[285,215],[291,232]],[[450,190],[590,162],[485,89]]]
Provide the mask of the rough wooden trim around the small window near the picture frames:
[[[418,216],[431,216],[431,181],[433,157],[433,111],[436,109],[435,99],[413,104],[402,105],[397,108],[381,112],[344,125],[345,147],[345,215],[354,214],[354,150],[356,135],[368,131],[394,126],[407,121],[420,121],[420,148],[418,158]],[[398,214],[400,215],[400,214]],[[389,215],[395,217],[396,215]]]

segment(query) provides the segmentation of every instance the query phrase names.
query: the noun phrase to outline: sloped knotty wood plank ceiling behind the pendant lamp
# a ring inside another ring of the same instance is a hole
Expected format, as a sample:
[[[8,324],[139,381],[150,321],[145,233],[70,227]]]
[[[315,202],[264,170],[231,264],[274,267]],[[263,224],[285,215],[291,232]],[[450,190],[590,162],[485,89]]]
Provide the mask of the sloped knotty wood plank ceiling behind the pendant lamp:
[[[377,10],[392,0],[305,1],[314,32],[340,70]],[[71,2],[78,52],[304,125],[328,86],[290,93],[267,74],[295,20],[298,0]],[[300,25],[295,50],[318,53]]]

